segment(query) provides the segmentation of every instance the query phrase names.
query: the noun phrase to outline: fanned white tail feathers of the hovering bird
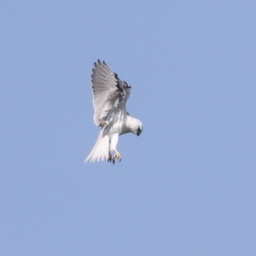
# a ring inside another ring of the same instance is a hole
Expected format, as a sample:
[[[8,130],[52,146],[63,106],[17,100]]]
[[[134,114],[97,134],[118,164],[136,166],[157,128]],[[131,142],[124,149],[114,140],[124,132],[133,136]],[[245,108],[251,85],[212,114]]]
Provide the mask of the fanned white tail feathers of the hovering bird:
[[[109,137],[102,137],[102,131],[100,132],[94,147],[91,149],[90,154],[86,157],[84,162],[90,161],[93,163],[95,161],[108,159]]]

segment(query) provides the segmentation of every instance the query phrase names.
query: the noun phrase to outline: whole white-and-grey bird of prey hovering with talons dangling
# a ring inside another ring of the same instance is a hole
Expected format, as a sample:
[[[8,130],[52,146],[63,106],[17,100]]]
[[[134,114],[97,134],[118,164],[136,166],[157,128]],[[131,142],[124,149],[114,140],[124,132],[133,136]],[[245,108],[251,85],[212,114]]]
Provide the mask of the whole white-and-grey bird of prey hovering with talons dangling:
[[[131,117],[125,108],[131,86],[119,79],[105,61],[98,60],[94,66],[91,74],[94,123],[102,130],[85,162],[108,160],[114,164],[116,159],[122,160],[117,150],[119,136],[128,132],[139,136],[143,123]]]

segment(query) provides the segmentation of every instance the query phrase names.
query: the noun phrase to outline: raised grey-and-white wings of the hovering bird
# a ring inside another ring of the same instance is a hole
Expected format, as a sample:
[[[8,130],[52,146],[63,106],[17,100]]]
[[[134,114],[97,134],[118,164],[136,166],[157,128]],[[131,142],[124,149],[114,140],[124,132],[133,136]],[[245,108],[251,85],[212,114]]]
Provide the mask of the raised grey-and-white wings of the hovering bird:
[[[103,126],[114,110],[125,108],[131,86],[119,79],[105,61],[98,60],[94,66],[91,75],[94,123]]]

